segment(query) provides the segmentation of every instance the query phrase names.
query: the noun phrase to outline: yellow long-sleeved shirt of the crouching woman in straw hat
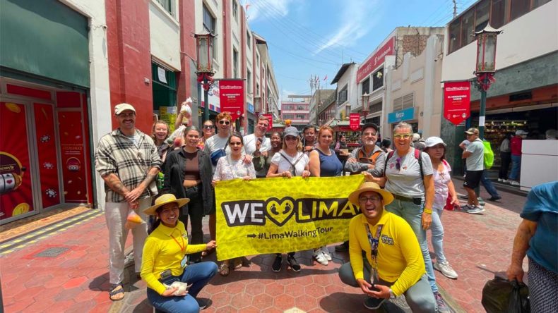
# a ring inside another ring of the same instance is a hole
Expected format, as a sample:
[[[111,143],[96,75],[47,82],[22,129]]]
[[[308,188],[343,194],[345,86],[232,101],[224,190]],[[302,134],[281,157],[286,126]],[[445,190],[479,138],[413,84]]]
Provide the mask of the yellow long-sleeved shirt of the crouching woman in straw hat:
[[[203,250],[206,250],[205,244],[188,245],[188,233],[181,221],[178,221],[174,228],[161,223],[153,233],[150,233],[143,246],[141,278],[146,281],[149,288],[161,295],[166,289],[159,281],[162,271],[170,269],[173,276],[182,275],[184,269],[180,266],[180,262],[184,254]]]

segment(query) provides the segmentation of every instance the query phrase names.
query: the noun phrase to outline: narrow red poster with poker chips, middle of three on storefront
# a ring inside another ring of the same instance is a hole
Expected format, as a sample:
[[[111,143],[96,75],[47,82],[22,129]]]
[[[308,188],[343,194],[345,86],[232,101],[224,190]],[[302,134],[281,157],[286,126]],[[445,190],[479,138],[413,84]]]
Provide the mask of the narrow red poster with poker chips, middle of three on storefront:
[[[60,188],[57,165],[57,145],[54,139],[54,113],[52,105],[33,104],[37,135],[37,156],[41,182],[42,207],[52,207],[60,203]]]

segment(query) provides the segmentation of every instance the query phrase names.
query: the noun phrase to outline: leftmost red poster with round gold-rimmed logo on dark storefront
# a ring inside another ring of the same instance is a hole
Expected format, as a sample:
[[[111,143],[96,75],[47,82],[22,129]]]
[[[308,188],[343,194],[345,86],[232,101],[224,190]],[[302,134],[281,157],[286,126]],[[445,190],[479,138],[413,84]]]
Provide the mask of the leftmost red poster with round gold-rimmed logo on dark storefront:
[[[0,219],[28,213],[33,207],[25,106],[0,102]],[[17,134],[17,135],[15,135]]]

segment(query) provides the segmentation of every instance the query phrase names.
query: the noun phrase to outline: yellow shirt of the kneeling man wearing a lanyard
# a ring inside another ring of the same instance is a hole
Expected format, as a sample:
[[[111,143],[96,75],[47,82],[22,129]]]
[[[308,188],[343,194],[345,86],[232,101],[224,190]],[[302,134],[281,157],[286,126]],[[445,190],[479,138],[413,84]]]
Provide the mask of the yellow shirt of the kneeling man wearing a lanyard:
[[[364,278],[362,251],[366,252],[368,262],[372,268],[370,255],[372,247],[366,231],[367,222],[364,214],[353,217],[349,225],[349,255],[352,272],[355,278]],[[378,276],[384,281],[395,282],[391,290],[395,295],[405,293],[410,286],[419,281],[425,274],[425,261],[422,258],[417,236],[409,224],[399,216],[384,209],[380,221],[376,226],[369,224],[372,237],[376,236],[378,225],[384,225],[378,244]]]

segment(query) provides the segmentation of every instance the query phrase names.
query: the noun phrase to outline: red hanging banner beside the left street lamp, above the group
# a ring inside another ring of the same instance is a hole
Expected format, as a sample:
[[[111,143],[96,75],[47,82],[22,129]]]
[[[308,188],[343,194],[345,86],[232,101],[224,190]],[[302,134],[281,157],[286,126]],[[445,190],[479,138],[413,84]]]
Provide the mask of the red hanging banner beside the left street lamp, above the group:
[[[219,80],[221,112],[229,111],[232,121],[244,114],[244,80]]]

